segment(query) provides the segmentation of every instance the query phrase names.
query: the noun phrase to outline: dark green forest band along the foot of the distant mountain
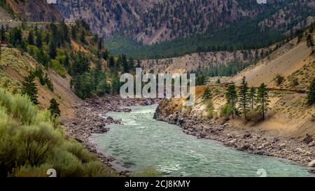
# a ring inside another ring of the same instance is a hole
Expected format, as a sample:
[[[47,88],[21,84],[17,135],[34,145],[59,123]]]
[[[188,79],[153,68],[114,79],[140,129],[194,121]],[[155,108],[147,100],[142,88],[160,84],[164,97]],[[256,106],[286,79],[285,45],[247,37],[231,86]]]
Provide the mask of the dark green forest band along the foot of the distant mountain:
[[[305,5],[304,5],[305,3]],[[116,33],[106,40],[106,47],[115,54],[125,53],[137,59],[177,57],[193,52],[248,50],[267,47],[292,37],[299,29],[307,27],[307,17],[314,16],[308,1],[289,3],[279,13],[277,7],[256,17],[230,22],[224,27],[210,27],[205,31],[178,36],[172,41],[144,45],[142,41]],[[303,6],[304,5],[304,6]],[[154,14],[153,14],[154,15]],[[296,15],[293,17],[292,15]],[[279,23],[276,20],[284,20]],[[176,24],[171,27],[176,27]],[[182,31],[182,29],[179,29]]]

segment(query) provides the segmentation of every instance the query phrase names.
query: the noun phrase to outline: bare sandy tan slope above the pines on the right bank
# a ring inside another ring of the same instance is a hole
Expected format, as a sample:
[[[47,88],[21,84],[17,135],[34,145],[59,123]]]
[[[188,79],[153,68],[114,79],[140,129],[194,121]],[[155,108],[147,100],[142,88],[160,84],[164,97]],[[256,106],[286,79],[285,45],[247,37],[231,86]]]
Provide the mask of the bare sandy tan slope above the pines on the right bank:
[[[268,87],[288,89],[299,88],[306,90],[308,84],[315,77],[315,55],[311,55],[311,50],[307,48],[306,42],[297,43],[297,39],[283,45],[276,50],[269,59],[264,59],[252,68],[239,73],[231,80],[237,85],[241,83],[241,78],[246,76],[249,85],[258,87],[260,83],[265,83]],[[295,74],[304,71],[304,76]],[[282,76],[283,82],[276,84],[276,76]],[[297,78],[297,87],[293,85],[293,79]]]

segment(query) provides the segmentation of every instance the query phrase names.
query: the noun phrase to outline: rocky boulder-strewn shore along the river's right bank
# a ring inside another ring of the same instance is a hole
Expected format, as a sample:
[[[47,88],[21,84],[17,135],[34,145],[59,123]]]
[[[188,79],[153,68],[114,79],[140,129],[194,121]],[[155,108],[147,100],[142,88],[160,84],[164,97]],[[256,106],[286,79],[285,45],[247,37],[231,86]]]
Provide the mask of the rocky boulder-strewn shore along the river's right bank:
[[[223,145],[257,155],[281,157],[309,167],[315,173],[315,141],[311,136],[303,141],[277,137],[266,130],[235,127],[225,120],[194,118],[190,113],[167,108],[165,101],[155,112],[156,120],[179,125],[183,132],[199,139],[219,141]]]

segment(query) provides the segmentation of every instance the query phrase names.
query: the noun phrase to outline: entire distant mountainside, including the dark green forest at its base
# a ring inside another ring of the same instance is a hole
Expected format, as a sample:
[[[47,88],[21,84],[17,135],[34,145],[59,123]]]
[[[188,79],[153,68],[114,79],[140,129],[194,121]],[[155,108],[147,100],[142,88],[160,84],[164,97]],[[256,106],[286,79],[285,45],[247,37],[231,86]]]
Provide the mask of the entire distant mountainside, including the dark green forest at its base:
[[[141,59],[266,47],[314,21],[314,1],[58,1],[116,54]],[[158,44],[155,44],[158,43]]]

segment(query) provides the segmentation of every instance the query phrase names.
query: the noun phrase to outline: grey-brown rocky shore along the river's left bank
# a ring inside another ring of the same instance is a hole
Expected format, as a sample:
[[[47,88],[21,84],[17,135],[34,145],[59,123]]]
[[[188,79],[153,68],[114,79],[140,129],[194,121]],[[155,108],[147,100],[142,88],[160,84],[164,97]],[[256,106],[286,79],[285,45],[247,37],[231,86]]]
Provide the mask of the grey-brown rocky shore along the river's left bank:
[[[66,126],[67,136],[74,137],[78,142],[83,143],[85,147],[92,153],[96,153],[99,160],[110,167],[118,174],[127,174],[123,167],[113,167],[113,157],[106,157],[102,153],[97,153],[96,146],[90,142],[92,134],[104,134],[109,131],[109,124],[117,123],[120,120],[113,120],[113,118],[102,118],[100,114],[108,112],[130,112],[130,109],[123,108],[126,106],[148,106],[157,104],[158,99],[121,99],[117,96],[106,95],[106,97],[96,97],[93,99],[86,99],[83,104],[75,106],[76,118],[63,120]]]

